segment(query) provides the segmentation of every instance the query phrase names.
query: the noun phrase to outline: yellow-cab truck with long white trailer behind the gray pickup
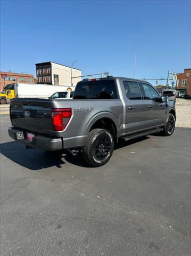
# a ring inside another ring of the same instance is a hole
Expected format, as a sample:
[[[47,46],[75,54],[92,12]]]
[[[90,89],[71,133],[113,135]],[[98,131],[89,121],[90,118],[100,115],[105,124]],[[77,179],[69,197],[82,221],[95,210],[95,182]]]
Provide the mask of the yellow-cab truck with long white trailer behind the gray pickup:
[[[48,98],[55,92],[71,91],[74,88],[74,86],[68,87],[48,84],[7,84],[0,93],[0,103],[10,103],[10,100],[14,98]]]

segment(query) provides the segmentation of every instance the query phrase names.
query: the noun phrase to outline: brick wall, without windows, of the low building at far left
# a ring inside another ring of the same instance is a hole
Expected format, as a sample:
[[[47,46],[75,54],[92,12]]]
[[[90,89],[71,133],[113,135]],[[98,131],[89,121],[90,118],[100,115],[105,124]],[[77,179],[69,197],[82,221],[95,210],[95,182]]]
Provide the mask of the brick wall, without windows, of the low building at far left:
[[[32,78],[32,84],[34,84],[34,75],[27,75],[27,74],[19,74],[19,73],[9,73],[0,71],[0,91],[3,90],[4,86],[4,79],[1,77],[1,74],[7,74],[7,76],[16,77],[16,81],[5,81],[6,84],[14,84],[14,83],[28,83],[28,78]],[[20,82],[19,78],[25,78],[25,82]]]

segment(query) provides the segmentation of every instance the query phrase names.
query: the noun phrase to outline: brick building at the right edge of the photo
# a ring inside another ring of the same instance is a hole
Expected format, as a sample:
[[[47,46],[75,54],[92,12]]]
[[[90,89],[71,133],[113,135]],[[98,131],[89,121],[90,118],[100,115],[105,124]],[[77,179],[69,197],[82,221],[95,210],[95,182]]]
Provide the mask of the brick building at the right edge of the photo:
[[[177,75],[176,91],[178,95],[191,95],[191,68],[185,68],[184,73]]]

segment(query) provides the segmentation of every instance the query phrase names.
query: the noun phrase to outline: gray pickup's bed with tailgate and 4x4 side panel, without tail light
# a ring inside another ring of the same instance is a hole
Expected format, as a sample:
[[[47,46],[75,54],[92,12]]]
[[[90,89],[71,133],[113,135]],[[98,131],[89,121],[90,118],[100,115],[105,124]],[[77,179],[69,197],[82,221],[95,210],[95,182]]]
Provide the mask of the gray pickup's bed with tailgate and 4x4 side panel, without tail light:
[[[54,131],[52,126],[52,109],[71,108],[70,123],[64,131]],[[115,123],[123,122],[121,100],[59,100],[59,99],[13,99],[11,100],[12,126],[32,133],[51,137],[70,138],[88,134],[91,119],[103,113],[114,119]],[[26,111],[29,112],[29,115]],[[116,119],[117,117],[117,119]],[[100,115],[99,115],[100,118]]]

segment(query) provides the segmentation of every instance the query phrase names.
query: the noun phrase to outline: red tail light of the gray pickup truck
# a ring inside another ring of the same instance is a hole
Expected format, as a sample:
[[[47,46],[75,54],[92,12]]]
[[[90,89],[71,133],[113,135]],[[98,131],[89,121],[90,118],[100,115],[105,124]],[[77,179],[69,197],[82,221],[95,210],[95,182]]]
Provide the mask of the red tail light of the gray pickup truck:
[[[63,131],[72,116],[71,108],[52,108],[52,125],[54,131]]]

